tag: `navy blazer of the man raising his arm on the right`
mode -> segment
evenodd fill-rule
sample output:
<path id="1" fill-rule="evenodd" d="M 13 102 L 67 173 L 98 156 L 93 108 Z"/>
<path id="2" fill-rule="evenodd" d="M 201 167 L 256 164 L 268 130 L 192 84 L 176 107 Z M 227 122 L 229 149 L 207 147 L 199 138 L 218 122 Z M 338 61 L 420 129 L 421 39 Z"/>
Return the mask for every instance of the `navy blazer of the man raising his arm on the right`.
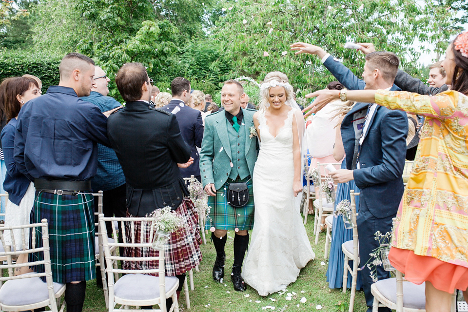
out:
<path id="1" fill-rule="evenodd" d="M 362 90 L 366 83 L 357 78 L 346 66 L 331 56 L 325 67 L 350 90 Z M 393 85 L 392 91 L 400 89 Z M 359 144 L 353 127 L 355 113 L 366 112 L 368 103 L 356 103 L 341 124 L 341 136 L 345 148 L 346 167 L 353 168 L 352 155 Z M 395 215 L 403 195 L 403 167 L 406 156 L 408 118 L 400 111 L 378 106 L 369 124 L 359 154 L 360 169 L 353 170 L 354 182 L 361 190 L 370 213 L 376 218 Z M 361 199 L 361 200 L 362 200 Z"/>

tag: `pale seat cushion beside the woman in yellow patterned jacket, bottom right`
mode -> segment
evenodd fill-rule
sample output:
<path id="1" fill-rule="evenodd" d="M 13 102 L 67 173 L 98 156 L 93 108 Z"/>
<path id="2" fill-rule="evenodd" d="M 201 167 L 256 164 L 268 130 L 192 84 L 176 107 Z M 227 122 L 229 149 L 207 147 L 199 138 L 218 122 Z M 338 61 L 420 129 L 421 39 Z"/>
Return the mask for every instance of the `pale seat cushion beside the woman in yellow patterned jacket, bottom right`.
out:
<path id="1" fill-rule="evenodd" d="M 396 278 L 382 279 L 374 285 L 385 298 L 396 304 Z M 424 283 L 417 285 L 403 281 L 403 307 L 424 310 L 426 307 L 425 290 Z"/>

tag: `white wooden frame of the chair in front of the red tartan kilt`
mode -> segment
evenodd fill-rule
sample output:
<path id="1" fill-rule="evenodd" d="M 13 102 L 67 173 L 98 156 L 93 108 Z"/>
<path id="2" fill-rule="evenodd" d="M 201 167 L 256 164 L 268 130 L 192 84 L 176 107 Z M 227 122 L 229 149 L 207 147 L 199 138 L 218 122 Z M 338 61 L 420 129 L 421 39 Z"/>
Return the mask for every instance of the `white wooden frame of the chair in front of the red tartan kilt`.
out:
<path id="1" fill-rule="evenodd" d="M 117 229 L 116 229 L 116 224 L 114 221 L 120 222 L 121 224 L 121 231 L 122 231 L 122 238 L 123 238 L 123 243 L 119 243 L 118 240 L 115 242 L 109 241 L 107 238 L 107 229 L 105 226 L 105 222 L 111 222 L 112 226 L 112 231 L 114 234 L 114 237 L 117 237 Z M 136 228 L 136 222 L 140 222 L 140 229 L 141 231 L 137 233 L 135 231 Z M 150 217 L 104 217 L 103 214 L 99 215 L 99 236 L 101 236 L 102 242 L 103 242 L 103 248 L 104 248 L 104 255 L 105 255 L 105 261 L 107 264 L 107 278 L 108 278 L 108 289 L 109 289 L 109 309 L 111 309 L 111 306 L 114 302 L 114 294 L 115 294 L 115 289 L 114 289 L 114 274 L 149 274 L 149 273 L 157 273 L 159 276 L 159 293 L 162 295 L 161 297 L 161 311 L 166 311 L 166 301 L 164 300 L 164 293 L 165 292 L 165 278 L 164 278 L 164 244 L 162 245 L 161 248 L 158 248 L 158 256 L 154 256 L 149 253 L 142 252 L 141 256 L 139 257 L 125 257 L 123 255 L 114 255 L 111 253 L 111 247 L 123 247 L 123 248 L 128 248 L 128 247 L 136 247 L 136 248 L 142 248 L 144 250 L 150 250 L 153 248 L 153 238 L 155 237 L 156 231 L 155 231 L 155 224 L 154 224 L 154 219 Z M 149 231 L 149 236 L 147 237 L 145 235 L 146 232 L 144 229 L 150 229 Z M 148 255 L 145 255 L 148 254 Z M 104 261 L 104 259 L 100 260 L 101 263 Z M 148 262 L 148 261 L 157 261 L 157 269 L 141 269 L 141 270 L 133 270 L 133 269 L 118 269 L 118 268 L 113 268 L 112 261 L 128 261 L 128 262 Z"/>

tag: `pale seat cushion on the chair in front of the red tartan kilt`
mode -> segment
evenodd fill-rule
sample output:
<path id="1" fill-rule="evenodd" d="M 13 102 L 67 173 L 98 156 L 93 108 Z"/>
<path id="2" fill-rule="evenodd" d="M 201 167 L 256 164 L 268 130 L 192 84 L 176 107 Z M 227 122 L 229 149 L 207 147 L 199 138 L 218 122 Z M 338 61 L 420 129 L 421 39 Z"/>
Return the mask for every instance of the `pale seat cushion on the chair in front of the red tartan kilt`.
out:
<path id="1" fill-rule="evenodd" d="M 178 286 L 179 280 L 177 277 L 165 276 L 164 279 L 166 294 L 168 291 Z M 114 293 L 116 297 L 125 300 L 150 300 L 158 298 L 159 277 L 145 274 L 123 275 L 116 282 Z"/>

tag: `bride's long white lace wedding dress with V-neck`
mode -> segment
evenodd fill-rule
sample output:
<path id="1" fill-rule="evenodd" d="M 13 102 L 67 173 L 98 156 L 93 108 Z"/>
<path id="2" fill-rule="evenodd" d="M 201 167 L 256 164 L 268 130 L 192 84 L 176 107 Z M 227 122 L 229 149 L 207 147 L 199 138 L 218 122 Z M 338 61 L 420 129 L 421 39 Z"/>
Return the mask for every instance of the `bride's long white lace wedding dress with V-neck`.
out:
<path id="1" fill-rule="evenodd" d="M 286 288 L 315 257 L 294 207 L 293 112 L 276 137 L 270 133 L 265 111 L 258 117 L 261 146 L 253 176 L 255 222 L 242 277 L 261 296 Z"/>

